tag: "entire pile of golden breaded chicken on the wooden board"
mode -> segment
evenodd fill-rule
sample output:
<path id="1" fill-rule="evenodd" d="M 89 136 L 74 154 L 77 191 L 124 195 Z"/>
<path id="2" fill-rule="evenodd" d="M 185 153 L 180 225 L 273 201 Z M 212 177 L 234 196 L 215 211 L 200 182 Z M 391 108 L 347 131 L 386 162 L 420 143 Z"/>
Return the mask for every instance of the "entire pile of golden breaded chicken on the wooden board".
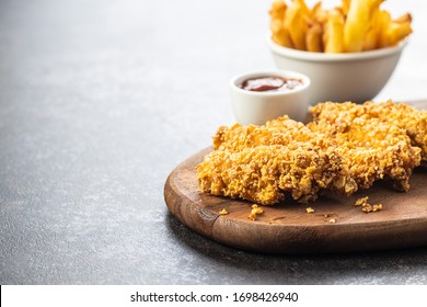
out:
<path id="1" fill-rule="evenodd" d="M 413 170 L 427 164 L 427 111 L 392 101 L 325 102 L 311 114 L 307 125 L 284 116 L 219 127 L 214 151 L 196 168 L 199 189 L 263 205 L 286 196 L 308 203 L 378 180 L 408 191 Z"/>

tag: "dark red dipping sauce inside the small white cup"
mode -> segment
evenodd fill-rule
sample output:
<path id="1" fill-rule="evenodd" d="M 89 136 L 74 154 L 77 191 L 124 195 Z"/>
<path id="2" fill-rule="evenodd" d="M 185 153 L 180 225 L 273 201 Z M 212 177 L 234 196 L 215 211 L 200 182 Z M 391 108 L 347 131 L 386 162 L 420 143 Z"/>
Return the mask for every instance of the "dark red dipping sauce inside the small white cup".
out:
<path id="1" fill-rule="evenodd" d="M 278 76 L 267 76 L 246 79 L 241 88 L 253 92 L 277 92 L 289 91 L 302 86 L 302 81 L 293 78 L 284 78 Z"/>

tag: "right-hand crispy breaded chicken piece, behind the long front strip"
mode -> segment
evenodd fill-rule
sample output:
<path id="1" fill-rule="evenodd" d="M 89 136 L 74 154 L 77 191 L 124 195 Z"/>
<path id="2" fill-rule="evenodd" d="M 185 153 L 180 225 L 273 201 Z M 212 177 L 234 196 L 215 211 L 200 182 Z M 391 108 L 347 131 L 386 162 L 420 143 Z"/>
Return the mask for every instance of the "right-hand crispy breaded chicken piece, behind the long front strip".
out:
<path id="1" fill-rule="evenodd" d="M 393 110 L 399 110 L 399 114 Z M 312 107 L 313 122 L 308 127 L 336 143 L 337 154 L 349 164 L 359 187 L 368 189 L 385 178 L 397 190 L 408 191 L 409 177 L 420 164 L 422 150 L 412 145 L 408 129 L 413 128 L 413 122 L 403 110 L 409 107 L 391 102 L 321 103 Z"/>

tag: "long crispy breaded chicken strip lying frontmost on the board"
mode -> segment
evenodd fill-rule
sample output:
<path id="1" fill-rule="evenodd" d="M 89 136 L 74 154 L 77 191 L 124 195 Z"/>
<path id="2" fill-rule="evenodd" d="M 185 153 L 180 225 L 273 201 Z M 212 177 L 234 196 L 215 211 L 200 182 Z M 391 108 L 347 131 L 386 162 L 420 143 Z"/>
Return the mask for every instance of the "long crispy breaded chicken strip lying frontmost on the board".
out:
<path id="1" fill-rule="evenodd" d="M 301 203 L 316 200 L 322 190 L 348 180 L 342 168 L 338 156 L 319 148 L 261 145 L 215 150 L 197 166 L 197 177 L 203 192 L 270 205 L 282 201 L 286 192 Z"/>

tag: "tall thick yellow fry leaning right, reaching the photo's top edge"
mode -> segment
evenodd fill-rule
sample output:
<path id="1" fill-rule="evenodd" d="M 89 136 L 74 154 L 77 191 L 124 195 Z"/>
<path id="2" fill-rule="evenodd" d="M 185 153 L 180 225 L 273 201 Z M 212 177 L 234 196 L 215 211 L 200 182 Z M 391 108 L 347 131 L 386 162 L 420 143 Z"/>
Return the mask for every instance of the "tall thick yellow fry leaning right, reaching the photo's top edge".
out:
<path id="1" fill-rule="evenodd" d="M 382 2 L 383 0 L 351 0 L 344 26 L 344 50 L 346 53 L 362 50 L 372 14 Z"/>

